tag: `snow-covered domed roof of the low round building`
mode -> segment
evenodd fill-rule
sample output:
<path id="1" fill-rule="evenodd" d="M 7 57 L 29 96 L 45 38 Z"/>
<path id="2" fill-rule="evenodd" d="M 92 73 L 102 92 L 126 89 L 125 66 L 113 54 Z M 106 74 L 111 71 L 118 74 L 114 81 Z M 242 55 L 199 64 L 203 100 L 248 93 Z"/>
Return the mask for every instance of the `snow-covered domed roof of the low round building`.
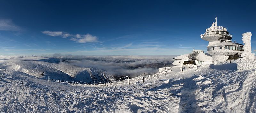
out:
<path id="1" fill-rule="evenodd" d="M 200 53 L 190 53 L 190 54 L 184 54 L 177 56 L 173 58 L 174 60 L 182 60 L 182 61 L 212 61 L 212 57 L 208 56 L 206 54 L 200 54 Z"/>

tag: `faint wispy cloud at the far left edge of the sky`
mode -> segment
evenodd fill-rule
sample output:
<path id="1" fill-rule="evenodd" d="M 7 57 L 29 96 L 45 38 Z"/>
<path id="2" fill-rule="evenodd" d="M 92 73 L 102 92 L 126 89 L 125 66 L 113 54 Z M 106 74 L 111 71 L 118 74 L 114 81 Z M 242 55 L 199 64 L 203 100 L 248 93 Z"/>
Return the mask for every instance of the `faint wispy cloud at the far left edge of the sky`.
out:
<path id="1" fill-rule="evenodd" d="M 0 20 L 0 31 L 19 31 L 20 27 L 12 23 L 10 19 Z"/>

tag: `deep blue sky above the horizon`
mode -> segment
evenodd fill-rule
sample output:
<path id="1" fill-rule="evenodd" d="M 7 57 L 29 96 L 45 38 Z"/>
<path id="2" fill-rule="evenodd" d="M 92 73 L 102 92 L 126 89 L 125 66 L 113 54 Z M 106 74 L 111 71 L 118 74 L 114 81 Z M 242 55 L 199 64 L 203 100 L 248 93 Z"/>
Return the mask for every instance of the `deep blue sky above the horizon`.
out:
<path id="1" fill-rule="evenodd" d="M 200 38 L 218 17 L 256 49 L 256 1 L 1 0 L 1 55 L 180 55 L 206 51 Z"/>

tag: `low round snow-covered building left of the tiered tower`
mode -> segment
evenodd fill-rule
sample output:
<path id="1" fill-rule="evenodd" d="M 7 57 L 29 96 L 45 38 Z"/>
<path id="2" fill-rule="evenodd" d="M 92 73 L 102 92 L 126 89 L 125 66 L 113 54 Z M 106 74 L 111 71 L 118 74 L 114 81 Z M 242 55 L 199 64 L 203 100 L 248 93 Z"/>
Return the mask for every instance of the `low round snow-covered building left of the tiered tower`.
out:
<path id="1" fill-rule="evenodd" d="M 197 61 L 197 64 L 212 64 L 213 59 L 211 56 L 204 54 L 204 51 L 202 50 L 193 50 L 192 53 L 190 54 L 184 54 L 177 56 L 173 58 L 173 65 L 178 65 L 180 66 L 181 64 L 186 65 L 186 64 L 196 64 L 195 61 Z"/>

